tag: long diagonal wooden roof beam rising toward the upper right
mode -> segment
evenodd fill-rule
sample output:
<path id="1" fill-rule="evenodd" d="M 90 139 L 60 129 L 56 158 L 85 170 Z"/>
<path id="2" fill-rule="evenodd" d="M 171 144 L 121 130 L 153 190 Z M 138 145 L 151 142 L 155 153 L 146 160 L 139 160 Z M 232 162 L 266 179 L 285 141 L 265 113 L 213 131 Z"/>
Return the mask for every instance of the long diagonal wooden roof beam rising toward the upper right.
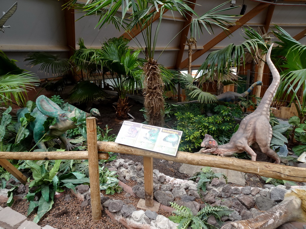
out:
<path id="1" fill-rule="evenodd" d="M 214 47 L 216 44 L 221 42 L 224 38 L 228 36 L 229 33 L 232 33 L 239 29 L 241 26 L 243 26 L 246 22 L 251 20 L 253 17 L 255 17 L 257 14 L 259 14 L 261 11 L 266 9 L 270 4 L 267 3 L 259 3 L 256 5 L 253 9 L 251 9 L 248 13 L 246 13 L 244 16 L 242 16 L 239 20 L 236 21 L 236 25 L 227 27 L 228 30 L 222 31 L 219 35 L 217 35 L 215 38 L 213 38 L 211 41 L 209 41 L 207 44 L 203 46 L 203 49 L 197 50 L 195 53 L 192 54 L 192 61 L 196 60 L 200 56 L 202 56 L 204 53 L 206 53 L 209 49 Z M 188 58 L 185 59 L 181 64 L 180 68 L 184 68 L 188 65 Z"/>

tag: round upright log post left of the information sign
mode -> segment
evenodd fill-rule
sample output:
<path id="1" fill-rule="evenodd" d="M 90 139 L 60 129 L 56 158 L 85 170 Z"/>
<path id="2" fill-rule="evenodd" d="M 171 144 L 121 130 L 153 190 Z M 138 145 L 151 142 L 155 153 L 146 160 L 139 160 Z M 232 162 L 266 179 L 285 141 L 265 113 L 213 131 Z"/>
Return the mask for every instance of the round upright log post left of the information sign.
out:
<path id="1" fill-rule="evenodd" d="M 97 129 L 95 117 L 86 118 L 89 182 L 91 196 L 91 215 L 92 221 L 98 222 L 101 219 L 101 198 L 99 180 L 99 162 L 97 148 Z"/>

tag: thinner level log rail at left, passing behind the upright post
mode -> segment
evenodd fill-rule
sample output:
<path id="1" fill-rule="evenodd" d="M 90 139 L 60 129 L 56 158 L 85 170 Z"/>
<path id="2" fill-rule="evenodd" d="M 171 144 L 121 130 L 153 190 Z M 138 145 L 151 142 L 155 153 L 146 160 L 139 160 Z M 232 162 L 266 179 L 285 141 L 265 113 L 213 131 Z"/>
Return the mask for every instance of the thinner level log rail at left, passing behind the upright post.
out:
<path id="1" fill-rule="evenodd" d="M 52 152 L 2 152 L 0 158 L 13 160 L 87 160 L 88 151 L 52 151 Z M 108 159 L 108 153 L 99 152 L 98 159 Z"/>

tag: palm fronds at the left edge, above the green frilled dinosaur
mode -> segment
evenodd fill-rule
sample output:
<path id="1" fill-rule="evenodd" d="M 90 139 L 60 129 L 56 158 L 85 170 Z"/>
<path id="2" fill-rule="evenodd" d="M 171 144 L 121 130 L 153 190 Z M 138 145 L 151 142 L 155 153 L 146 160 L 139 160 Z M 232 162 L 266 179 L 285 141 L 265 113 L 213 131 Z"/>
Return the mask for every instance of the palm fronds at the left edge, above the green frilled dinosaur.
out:
<path id="1" fill-rule="evenodd" d="M 25 107 L 26 92 L 39 85 L 39 78 L 32 72 L 17 67 L 14 60 L 10 60 L 0 50 L 0 103 L 8 105 L 12 99 L 20 107 Z"/>

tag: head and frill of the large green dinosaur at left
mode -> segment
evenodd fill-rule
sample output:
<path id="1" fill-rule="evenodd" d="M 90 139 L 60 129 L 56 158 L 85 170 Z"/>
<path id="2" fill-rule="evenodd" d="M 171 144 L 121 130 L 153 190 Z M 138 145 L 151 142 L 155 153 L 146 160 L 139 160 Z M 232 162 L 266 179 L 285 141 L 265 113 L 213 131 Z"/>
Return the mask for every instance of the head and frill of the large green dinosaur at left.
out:
<path id="1" fill-rule="evenodd" d="M 37 109 L 48 117 L 56 118 L 54 125 L 50 125 L 50 129 L 55 131 L 66 131 L 69 129 L 76 128 L 76 125 L 73 124 L 73 121 L 69 118 L 74 117 L 74 111 L 63 111 L 56 103 L 48 99 L 46 96 L 41 95 L 36 99 Z M 43 125 L 43 123 L 41 123 Z"/>

